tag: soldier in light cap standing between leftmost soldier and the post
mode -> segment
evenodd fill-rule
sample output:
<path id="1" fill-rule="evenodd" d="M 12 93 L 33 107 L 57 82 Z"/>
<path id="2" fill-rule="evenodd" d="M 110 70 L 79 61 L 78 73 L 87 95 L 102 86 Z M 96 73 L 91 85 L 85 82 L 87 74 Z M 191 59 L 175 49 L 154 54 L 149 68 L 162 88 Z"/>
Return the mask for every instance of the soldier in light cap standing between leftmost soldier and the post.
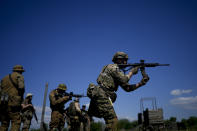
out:
<path id="1" fill-rule="evenodd" d="M 35 109 L 32 105 L 32 94 L 28 93 L 26 95 L 25 100 L 21 104 L 22 106 L 22 123 L 23 123 L 23 128 L 22 131 L 28 131 L 31 125 L 31 120 L 33 117 L 33 113 L 35 112 Z"/>

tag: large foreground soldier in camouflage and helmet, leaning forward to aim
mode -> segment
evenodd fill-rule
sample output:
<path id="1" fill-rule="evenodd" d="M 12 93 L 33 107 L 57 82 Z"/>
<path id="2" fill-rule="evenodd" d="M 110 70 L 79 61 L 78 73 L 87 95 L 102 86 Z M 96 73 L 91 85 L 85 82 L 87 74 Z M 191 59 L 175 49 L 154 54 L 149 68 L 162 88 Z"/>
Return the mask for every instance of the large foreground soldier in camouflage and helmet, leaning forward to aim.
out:
<path id="1" fill-rule="evenodd" d="M 131 92 L 137 88 L 146 84 L 149 80 L 148 76 L 137 83 L 129 84 L 129 80 L 135 74 L 137 74 L 140 67 L 135 67 L 125 75 L 121 69 L 123 67 L 120 64 L 127 64 L 128 55 L 124 52 L 117 52 L 113 57 L 114 64 L 109 64 L 103 67 L 99 77 L 97 78 L 98 86 L 93 84 L 89 85 L 89 88 L 93 86 L 93 95 L 91 98 L 88 114 L 99 118 L 104 118 L 106 123 L 105 131 L 117 130 L 117 116 L 113 108 L 112 102 L 116 100 L 116 91 L 118 86 L 121 86 L 126 92 Z M 88 88 L 88 89 L 89 89 Z M 89 90 L 88 90 L 89 93 Z"/>

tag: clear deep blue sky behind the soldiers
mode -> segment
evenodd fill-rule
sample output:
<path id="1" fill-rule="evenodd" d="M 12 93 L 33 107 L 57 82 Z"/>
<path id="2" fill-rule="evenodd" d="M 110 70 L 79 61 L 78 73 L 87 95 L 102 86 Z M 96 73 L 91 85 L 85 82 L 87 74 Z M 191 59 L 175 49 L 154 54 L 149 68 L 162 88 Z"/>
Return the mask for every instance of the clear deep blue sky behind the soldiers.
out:
<path id="1" fill-rule="evenodd" d="M 137 119 L 143 97 L 156 97 L 165 119 L 196 116 L 196 5 L 194 0 L 2 0 L 0 78 L 23 65 L 26 93 L 34 94 L 40 109 L 46 82 L 49 91 L 65 83 L 69 92 L 86 94 L 114 53 L 124 51 L 130 63 L 145 59 L 170 67 L 147 68 L 149 83 L 134 92 L 119 88 L 114 104 L 119 118 Z M 130 83 L 140 79 L 139 73 Z M 88 103 L 81 99 L 81 105 Z"/>

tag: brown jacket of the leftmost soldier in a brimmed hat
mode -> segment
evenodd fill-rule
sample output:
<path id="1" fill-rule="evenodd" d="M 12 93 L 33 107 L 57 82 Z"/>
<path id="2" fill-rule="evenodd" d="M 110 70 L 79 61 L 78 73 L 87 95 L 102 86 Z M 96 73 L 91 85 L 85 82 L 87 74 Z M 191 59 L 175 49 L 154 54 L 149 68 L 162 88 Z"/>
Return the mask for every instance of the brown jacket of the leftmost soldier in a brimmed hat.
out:
<path id="1" fill-rule="evenodd" d="M 20 106 L 25 92 L 23 75 L 18 72 L 13 72 L 5 76 L 1 81 L 1 89 L 2 93 L 7 93 L 9 96 L 8 106 Z"/>

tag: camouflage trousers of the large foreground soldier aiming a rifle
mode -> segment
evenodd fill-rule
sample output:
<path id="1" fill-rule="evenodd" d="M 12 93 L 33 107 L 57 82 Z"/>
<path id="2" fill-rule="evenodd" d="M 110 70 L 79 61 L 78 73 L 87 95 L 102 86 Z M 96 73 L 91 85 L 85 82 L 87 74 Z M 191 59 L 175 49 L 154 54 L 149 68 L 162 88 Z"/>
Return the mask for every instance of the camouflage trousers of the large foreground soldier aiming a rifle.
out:
<path id="1" fill-rule="evenodd" d="M 98 94 L 91 99 L 88 110 L 90 116 L 104 118 L 106 128 L 105 131 L 117 131 L 117 116 L 109 97 L 102 88 L 98 89 Z"/>

